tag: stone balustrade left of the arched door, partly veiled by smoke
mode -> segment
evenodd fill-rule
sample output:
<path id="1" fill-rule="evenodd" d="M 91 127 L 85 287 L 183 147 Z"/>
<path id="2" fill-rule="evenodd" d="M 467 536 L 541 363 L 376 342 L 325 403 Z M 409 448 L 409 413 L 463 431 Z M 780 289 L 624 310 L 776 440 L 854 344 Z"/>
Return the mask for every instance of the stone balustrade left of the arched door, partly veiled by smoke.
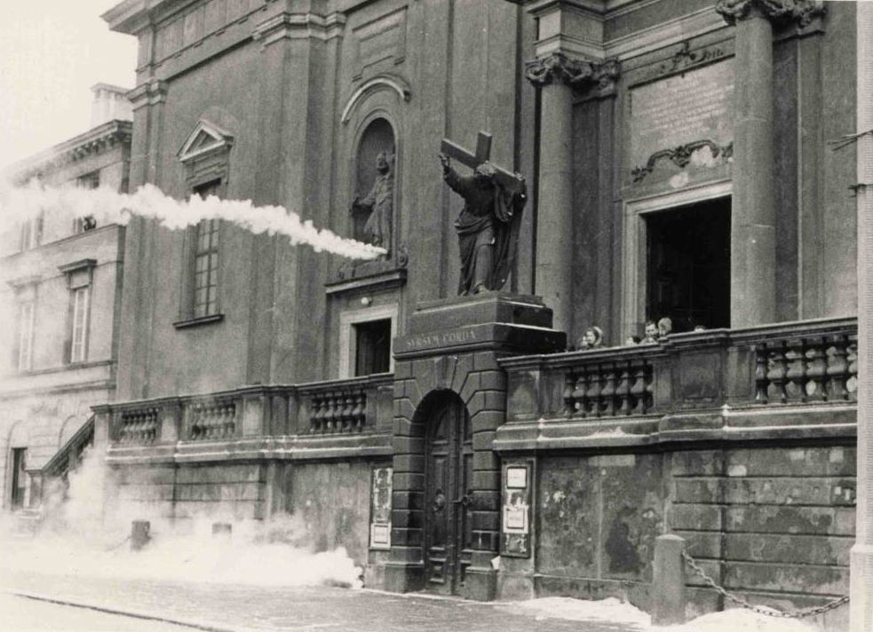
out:
<path id="1" fill-rule="evenodd" d="M 113 446 L 390 432 L 393 375 L 150 399 L 95 408 Z"/>

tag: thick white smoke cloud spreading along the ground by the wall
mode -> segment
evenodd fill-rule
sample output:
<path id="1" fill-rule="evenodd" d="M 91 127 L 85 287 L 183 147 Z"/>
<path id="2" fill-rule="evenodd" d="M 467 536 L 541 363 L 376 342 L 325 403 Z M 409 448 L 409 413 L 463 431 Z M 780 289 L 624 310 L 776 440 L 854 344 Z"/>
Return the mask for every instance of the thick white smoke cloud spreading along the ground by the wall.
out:
<path id="1" fill-rule="evenodd" d="M 345 549 L 315 551 L 302 521 L 293 516 L 232 520 L 195 516 L 172 521 L 156 506 L 104 515 L 106 472 L 95 450 L 69 475 L 69 486 L 46 490 L 44 517 L 33 537 L 15 533 L 12 520 L 0 535 L 0 569 L 103 578 L 141 578 L 270 586 L 361 588 L 361 568 Z M 111 504 L 111 503 L 110 503 Z M 148 520 L 151 541 L 131 550 L 131 521 Z M 212 525 L 231 525 L 214 536 Z M 182 523 L 182 524 L 179 524 Z"/>

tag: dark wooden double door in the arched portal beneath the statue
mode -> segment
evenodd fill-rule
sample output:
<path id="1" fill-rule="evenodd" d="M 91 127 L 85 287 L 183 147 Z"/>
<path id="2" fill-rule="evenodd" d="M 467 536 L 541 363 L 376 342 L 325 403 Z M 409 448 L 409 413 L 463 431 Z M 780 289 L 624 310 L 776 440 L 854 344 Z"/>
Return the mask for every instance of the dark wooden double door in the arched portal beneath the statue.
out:
<path id="1" fill-rule="evenodd" d="M 435 406 L 427 424 L 426 589 L 443 595 L 461 592 L 472 557 L 470 426 L 470 415 L 457 396 L 447 396 Z"/>

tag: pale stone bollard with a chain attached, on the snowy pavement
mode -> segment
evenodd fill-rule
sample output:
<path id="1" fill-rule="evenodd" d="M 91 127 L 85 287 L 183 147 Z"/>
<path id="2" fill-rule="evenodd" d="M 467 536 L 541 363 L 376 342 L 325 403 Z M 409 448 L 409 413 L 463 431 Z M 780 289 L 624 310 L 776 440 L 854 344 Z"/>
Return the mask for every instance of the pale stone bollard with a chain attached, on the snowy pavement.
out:
<path id="1" fill-rule="evenodd" d="M 655 573 L 652 580 L 652 625 L 685 623 L 685 540 L 678 535 L 655 539 Z"/>

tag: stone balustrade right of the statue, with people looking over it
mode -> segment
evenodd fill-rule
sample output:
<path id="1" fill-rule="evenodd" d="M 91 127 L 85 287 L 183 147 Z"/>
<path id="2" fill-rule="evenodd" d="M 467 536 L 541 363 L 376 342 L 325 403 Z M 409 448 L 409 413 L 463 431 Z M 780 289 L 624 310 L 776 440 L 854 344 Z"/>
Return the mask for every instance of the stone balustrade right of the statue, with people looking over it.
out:
<path id="1" fill-rule="evenodd" d="M 844 436 L 854 431 L 856 356 L 856 320 L 828 319 L 501 359 L 508 399 L 496 446 L 782 438 L 800 426 Z"/>

